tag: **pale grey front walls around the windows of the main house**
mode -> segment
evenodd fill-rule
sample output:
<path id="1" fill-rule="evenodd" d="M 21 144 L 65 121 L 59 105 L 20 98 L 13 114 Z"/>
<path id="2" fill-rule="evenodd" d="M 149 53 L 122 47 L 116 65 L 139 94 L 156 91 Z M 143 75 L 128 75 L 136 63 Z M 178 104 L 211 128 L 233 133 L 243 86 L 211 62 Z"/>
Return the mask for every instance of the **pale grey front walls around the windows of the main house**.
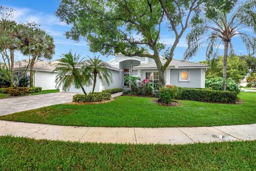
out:
<path id="1" fill-rule="evenodd" d="M 180 70 L 189 71 L 189 82 L 180 82 Z M 164 73 L 166 85 L 175 85 L 188 88 L 205 87 L 205 69 L 166 69 Z M 157 72 L 157 70 L 138 70 L 141 80 L 146 78 L 146 72 Z"/>

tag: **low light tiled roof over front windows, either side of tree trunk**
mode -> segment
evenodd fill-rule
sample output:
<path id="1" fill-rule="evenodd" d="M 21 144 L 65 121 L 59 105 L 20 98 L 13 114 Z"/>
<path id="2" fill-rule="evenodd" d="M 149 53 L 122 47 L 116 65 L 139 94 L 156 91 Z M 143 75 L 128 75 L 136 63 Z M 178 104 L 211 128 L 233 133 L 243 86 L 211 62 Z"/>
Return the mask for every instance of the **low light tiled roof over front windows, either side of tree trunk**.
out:
<path id="1" fill-rule="evenodd" d="M 162 64 L 166 62 L 166 60 L 161 60 Z M 204 63 L 197 63 L 197 62 L 189 62 L 189 61 L 183 61 L 183 60 L 176 60 L 173 59 L 169 66 L 169 68 L 186 68 L 186 67 L 194 67 L 194 68 L 210 68 L 207 66 L 207 64 Z M 156 62 L 150 62 L 147 64 L 141 64 L 139 66 L 135 66 L 133 68 L 157 68 Z"/>

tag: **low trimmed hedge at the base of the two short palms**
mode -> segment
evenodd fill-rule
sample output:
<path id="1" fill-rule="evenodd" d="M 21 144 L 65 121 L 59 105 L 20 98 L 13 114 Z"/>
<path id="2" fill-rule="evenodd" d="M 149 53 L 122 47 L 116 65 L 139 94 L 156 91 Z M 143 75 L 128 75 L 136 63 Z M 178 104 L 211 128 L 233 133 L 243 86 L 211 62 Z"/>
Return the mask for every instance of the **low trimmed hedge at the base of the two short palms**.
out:
<path id="1" fill-rule="evenodd" d="M 106 92 L 89 93 L 88 95 L 76 94 L 73 96 L 73 102 L 101 102 L 110 99 L 111 94 Z"/>

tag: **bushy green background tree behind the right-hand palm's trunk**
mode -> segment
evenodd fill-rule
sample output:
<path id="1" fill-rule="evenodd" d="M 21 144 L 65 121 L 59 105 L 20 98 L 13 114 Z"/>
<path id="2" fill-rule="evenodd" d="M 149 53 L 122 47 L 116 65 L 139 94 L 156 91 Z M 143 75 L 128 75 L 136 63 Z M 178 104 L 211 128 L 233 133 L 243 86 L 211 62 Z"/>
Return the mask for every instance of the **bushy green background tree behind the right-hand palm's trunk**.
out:
<path id="1" fill-rule="evenodd" d="M 211 61 L 210 61 L 211 62 Z M 209 63 L 209 61 L 202 61 L 202 63 Z M 211 62 L 212 63 L 212 62 Z M 236 83 L 240 83 L 241 79 L 248 74 L 249 70 L 246 61 L 240 59 L 238 56 L 230 56 L 227 60 L 227 78 L 233 79 Z M 205 77 L 207 79 L 223 76 L 223 56 L 215 59 L 215 63 L 211 68 L 207 69 Z"/>

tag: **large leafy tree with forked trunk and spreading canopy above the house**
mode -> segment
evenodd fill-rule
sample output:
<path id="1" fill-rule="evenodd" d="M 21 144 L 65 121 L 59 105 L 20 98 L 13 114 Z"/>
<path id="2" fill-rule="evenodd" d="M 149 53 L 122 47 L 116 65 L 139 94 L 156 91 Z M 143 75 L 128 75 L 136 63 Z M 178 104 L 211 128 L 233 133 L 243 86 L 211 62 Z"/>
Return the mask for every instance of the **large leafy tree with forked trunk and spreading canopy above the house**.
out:
<path id="1" fill-rule="evenodd" d="M 216 4 L 221 3 L 206 0 L 62 0 L 55 14 L 72 25 L 66 37 L 76 41 L 85 38 L 92 52 L 154 59 L 159 83 L 163 86 L 164 71 L 189 23 L 194 26 L 202 9 Z M 163 27 L 174 35 L 171 46 L 161 41 Z M 161 59 L 161 53 L 165 60 Z"/>

